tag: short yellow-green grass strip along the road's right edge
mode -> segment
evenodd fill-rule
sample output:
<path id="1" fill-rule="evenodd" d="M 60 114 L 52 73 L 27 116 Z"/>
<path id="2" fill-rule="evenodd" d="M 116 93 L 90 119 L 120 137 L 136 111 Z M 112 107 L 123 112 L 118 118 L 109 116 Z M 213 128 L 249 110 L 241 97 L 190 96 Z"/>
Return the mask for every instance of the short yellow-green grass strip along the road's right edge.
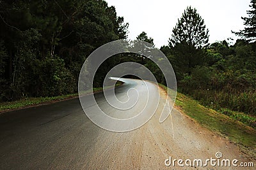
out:
<path id="1" fill-rule="evenodd" d="M 160 86 L 167 90 L 163 85 Z M 243 152 L 255 158 L 256 130 L 252 127 L 239 122 L 236 118 L 228 117 L 228 115 L 224 115 L 221 112 L 206 108 L 198 101 L 184 94 L 177 93 L 175 106 L 202 126 L 217 132 L 221 136 L 225 136 L 225 138 L 241 146 Z"/>

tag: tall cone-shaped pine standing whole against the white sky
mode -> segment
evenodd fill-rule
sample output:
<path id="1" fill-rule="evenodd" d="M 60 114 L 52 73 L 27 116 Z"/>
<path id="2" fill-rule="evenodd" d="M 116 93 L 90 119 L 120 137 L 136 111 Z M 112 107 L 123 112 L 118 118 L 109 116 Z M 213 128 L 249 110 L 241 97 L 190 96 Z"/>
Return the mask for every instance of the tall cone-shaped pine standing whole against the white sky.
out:
<path id="1" fill-rule="evenodd" d="M 205 28 L 204 19 L 189 6 L 173 28 L 169 39 L 170 48 L 174 49 L 178 67 L 183 73 L 204 62 L 202 49 L 208 45 L 209 30 Z"/>

